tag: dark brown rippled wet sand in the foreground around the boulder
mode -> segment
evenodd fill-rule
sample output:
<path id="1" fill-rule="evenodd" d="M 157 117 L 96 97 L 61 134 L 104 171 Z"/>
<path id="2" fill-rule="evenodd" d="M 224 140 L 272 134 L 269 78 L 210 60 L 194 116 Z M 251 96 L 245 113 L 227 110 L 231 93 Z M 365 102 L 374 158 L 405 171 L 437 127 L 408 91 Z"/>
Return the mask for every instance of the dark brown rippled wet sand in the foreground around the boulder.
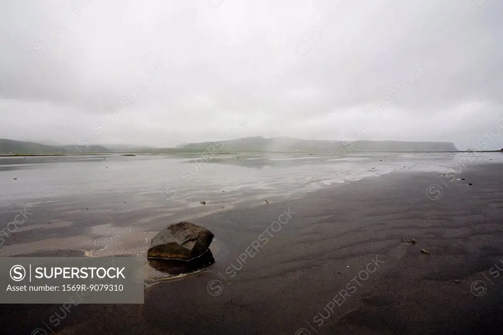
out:
<path id="1" fill-rule="evenodd" d="M 216 262 L 206 271 L 147 287 L 143 305 L 79 304 L 65 311 L 2 304 L 0 329 L 499 334 L 503 271 L 494 266 L 503 269 L 501 171 L 500 163 L 473 164 L 457 176 L 466 180 L 452 182 L 438 173 L 398 172 L 210 214 L 196 222 L 216 236 Z M 434 184 L 443 192 L 437 200 L 427 194 Z M 278 218 L 288 222 L 273 223 Z M 417 243 L 405 241 L 411 238 Z M 58 324 L 49 321 L 55 313 Z"/>

